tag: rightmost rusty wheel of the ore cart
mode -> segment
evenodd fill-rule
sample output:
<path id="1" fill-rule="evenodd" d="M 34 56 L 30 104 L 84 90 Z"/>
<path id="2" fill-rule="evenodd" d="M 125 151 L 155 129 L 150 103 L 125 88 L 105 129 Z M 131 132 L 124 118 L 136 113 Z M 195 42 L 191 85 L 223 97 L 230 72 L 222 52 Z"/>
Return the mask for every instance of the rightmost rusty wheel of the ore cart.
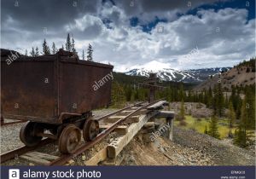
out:
<path id="1" fill-rule="evenodd" d="M 84 123 L 84 141 L 92 141 L 100 132 L 100 125 L 97 120 L 87 119 Z"/>

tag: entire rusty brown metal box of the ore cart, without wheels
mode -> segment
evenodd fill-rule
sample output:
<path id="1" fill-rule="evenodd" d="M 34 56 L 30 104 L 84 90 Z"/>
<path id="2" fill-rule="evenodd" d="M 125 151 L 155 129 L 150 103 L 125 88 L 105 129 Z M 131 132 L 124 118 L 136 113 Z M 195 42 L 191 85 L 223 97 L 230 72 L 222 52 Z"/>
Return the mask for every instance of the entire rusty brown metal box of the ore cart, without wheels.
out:
<path id="1" fill-rule="evenodd" d="M 79 61 L 72 53 L 38 57 L 20 56 L 11 64 L 1 58 L 1 115 L 3 118 L 61 124 L 110 103 L 111 80 L 98 90 L 95 81 L 113 66 Z"/>

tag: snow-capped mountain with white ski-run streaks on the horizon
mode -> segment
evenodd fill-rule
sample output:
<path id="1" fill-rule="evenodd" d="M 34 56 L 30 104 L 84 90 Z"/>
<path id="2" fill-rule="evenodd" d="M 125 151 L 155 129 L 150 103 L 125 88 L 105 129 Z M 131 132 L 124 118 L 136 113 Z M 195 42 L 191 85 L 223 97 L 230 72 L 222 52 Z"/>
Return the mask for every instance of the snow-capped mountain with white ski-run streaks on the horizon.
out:
<path id="1" fill-rule="evenodd" d="M 131 76 L 149 76 L 149 73 L 156 72 L 157 76 L 165 81 L 176 81 L 184 83 L 199 83 L 211 75 L 227 71 L 230 67 L 215 67 L 215 68 L 202 68 L 192 70 L 175 70 L 167 64 L 163 64 L 157 61 L 151 61 L 144 66 L 135 66 L 132 69 L 128 69 L 125 74 Z"/>

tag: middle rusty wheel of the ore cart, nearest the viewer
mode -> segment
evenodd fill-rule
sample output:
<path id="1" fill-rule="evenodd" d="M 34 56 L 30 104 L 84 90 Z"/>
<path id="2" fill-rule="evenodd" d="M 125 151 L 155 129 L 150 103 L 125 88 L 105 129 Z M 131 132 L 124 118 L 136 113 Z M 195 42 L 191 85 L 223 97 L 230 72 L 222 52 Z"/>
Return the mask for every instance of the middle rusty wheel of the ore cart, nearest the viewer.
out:
<path id="1" fill-rule="evenodd" d="M 61 153 L 73 153 L 81 141 L 81 132 L 73 124 L 68 124 L 62 131 L 59 139 L 59 151 Z"/>

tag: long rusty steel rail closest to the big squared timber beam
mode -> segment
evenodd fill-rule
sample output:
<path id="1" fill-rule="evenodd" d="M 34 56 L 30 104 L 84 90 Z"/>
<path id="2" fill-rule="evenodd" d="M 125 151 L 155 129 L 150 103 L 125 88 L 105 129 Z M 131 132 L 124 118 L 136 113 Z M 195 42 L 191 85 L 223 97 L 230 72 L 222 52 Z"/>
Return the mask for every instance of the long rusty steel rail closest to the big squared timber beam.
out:
<path id="1" fill-rule="evenodd" d="M 160 100 L 158 100 L 158 101 L 160 101 Z M 139 112 L 143 108 L 151 106 L 152 104 L 154 104 L 154 103 L 156 103 L 158 101 L 154 101 L 154 102 L 148 103 L 147 105 L 144 105 L 143 107 L 137 108 L 134 112 L 132 112 L 132 113 L 128 114 L 127 116 L 125 116 L 125 118 L 120 118 L 118 121 L 113 123 L 108 129 L 103 130 L 98 136 L 96 136 L 96 138 L 93 141 L 89 141 L 89 142 L 81 145 L 80 147 L 78 147 L 78 149 L 76 149 L 76 151 L 74 153 L 62 154 L 60 158 L 51 161 L 49 163 L 49 165 L 65 165 L 69 160 L 73 159 L 74 157 L 78 156 L 81 153 L 84 153 L 85 150 L 89 149 L 90 147 L 93 147 L 97 142 L 102 141 L 102 139 L 104 137 L 108 136 L 108 134 L 110 132 L 112 132 L 116 127 L 118 127 L 119 124 L 124 122 L 126 118 L 130 118 L 132 115 L 134 115 L 135 113 Z M 127 108 L 129 108 L 129 107 L 127 107 Z"/>

